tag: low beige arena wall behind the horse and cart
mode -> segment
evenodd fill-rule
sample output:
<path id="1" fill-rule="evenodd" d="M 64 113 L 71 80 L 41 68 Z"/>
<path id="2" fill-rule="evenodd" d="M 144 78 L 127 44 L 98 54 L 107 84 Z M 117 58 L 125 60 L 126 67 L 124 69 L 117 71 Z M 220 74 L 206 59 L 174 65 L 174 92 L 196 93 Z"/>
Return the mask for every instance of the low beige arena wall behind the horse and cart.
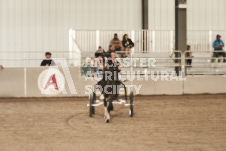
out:
<path id="1" fill-rule="evenodd" d="M 67 94 L 56 96 L 43 95 L 38 87 L 38 77 L 46 67 L 37 68 L 5 68 L 0 70 L 0 97 L 71 97 L 87 96 L 86 86 L 96 84 L 95 80 L 80 76 L 80 69 L 70 67 L 70 74 L 77 94 L 71 94 L 67 80 L 65 90 Z M 62 73 L 62 68 L 59 69 Z M 66 78 L 65 78 L 66 79 Z M 139 95 L 182 95 L 182 94 L 217 94 L 226 93 L 225 76 L 187 77 L 185 81 L 126 81 L 125 85 L 135 85 L 141 89 Z M 136 91 L 133 89 L 135 95 Z M 129 92 L 128 92 L 129 93 Z"/>

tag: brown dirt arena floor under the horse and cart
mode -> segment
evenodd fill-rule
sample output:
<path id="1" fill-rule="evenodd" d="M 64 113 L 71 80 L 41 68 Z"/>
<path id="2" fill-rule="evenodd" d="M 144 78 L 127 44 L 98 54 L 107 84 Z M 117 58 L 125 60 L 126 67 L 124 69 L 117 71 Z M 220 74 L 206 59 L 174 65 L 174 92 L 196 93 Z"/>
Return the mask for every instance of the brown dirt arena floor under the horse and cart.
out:
<path id="1" fill-rule="evenodd" d="M 226 151 L 226 95 L 136 97 L 88 116 L 88 98 L 0 101 L 0 151 Z"/>

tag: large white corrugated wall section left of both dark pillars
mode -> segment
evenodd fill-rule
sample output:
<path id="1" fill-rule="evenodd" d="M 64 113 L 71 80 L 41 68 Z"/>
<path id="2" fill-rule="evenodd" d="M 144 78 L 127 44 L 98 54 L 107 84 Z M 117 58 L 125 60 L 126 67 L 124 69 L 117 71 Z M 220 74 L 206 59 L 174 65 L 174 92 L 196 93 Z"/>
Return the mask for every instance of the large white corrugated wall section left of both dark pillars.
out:
<path id="1" fill-rule="evenodd" d="M 71 28 L 142 28 L 140 0 L 0 0 L 0 4 L 0 51 L 68 51 Z M 1 53 L 9 55 L 21 57 Z"/>

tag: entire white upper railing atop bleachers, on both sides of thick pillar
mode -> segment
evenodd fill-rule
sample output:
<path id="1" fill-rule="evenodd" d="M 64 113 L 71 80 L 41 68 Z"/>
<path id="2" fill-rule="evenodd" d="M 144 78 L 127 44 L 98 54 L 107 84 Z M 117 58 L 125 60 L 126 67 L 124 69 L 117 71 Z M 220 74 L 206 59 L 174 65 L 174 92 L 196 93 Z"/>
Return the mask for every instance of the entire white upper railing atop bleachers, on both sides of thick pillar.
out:
<path id="1" fill-rule="evenodd" d="M 94 52 L 98 46 L 105 50 L 112 40 L 114 33 L 120 40 L 124 34 L 134 42 L 134 52 L 164 52 L 175 48 L 174 30 L 73 30 L 77 45 L 82 52 Z M 216 35 L 220 34 L 226 39 L 225 30 L 188 30 L 187 44 L 192 51 L 211 51 Z"/>

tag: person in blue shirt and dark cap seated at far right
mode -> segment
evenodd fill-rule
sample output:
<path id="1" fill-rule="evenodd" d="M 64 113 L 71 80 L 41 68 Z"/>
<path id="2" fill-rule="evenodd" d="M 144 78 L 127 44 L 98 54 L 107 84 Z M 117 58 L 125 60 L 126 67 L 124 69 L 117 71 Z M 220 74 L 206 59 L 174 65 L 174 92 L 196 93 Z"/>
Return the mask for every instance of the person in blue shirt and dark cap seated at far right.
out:
<path id="1" fill-rule="evenodd" d="M 224 62 L 226 62 L 226 54 L 223 50 L 224 48 L 224 42 L 221 40 L 221 36 L 220 35 L 217 35 L 216 37 L 217 39 L 213 42 L 213 48 L 214 48 L 214 51 L 217 51 L 217 52 L 214 52 L 213 53 L 213 59 L 212 59 L 212 62 L 214 62 L 215 58 L 218 58 L 220 56 L 224 57 Z M 218 59 L 218 62 L 220 62 L 220 59 Z"/>

